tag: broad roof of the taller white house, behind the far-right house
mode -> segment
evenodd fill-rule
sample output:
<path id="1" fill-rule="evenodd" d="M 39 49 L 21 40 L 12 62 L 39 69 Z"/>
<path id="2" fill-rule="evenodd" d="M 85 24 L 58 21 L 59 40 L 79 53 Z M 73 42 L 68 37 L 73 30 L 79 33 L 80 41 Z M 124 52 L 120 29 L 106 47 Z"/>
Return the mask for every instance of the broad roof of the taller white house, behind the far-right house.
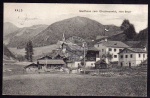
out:
<path id="1" fill-rule="evenodd" d="M 129 46 L 121 41 L 100 41 L 98 44 L 103 44 L 106 47 L 128 48 Z"/>

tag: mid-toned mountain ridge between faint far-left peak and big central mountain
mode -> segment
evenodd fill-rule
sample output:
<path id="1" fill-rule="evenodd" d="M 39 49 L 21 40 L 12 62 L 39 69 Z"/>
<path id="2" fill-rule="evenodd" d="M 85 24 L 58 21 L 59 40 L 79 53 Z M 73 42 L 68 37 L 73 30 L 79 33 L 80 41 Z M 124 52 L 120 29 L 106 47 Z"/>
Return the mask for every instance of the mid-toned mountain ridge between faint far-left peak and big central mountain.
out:
<path id="1" fill-rule="evenodd" d="M 47 25 L 33 25 L 31 27 L 20 28 L 17 31 L 4 37 L 4 43 L 9 47 L 23 48 L 29 40 L 38 35 Z"/>

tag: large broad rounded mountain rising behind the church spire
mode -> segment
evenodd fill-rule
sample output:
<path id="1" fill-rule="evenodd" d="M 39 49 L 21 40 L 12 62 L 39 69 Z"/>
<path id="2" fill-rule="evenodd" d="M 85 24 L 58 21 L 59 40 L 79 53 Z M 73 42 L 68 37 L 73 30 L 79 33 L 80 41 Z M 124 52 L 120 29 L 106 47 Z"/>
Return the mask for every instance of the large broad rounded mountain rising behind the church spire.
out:
<path id="1" fill-rule="evenodd" d="M 78 36 L 85 40 L 93 40 L 97 35 L 111 36 L 120 32 L 121 30 L 117 26 L 105 26 L 95 20 L 77 16 L 51 24 L 36 35 L 32 41 L 37 47 L 57 43 L 58 40 L 62 40 L 63 33 L 66 39 L 71 36 Z"/>

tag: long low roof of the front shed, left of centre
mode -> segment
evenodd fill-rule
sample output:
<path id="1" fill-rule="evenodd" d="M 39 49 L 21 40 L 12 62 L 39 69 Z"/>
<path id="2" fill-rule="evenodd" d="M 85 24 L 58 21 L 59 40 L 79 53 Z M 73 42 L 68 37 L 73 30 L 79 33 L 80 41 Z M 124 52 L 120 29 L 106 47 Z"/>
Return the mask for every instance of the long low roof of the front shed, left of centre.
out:
<path id="1" fill-rule="evenodd" d="M 65 64 L 63 60 L 57 59 L 57 60 L 39 60 L 39 64 Z"/>

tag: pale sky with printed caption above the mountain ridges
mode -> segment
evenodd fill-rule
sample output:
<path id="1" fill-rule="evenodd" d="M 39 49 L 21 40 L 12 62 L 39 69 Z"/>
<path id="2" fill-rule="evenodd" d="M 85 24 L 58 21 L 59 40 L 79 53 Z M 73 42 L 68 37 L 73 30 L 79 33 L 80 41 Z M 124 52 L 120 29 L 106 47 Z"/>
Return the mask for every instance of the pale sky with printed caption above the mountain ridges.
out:
<path id="1" fill-rule="evenodd" d="M 18 27 L 51 25 L 76 16 L 87 17 L 103 25 L 116 26 L 128 19 L 138 33 L 148 26 L 148 5 L 4 3 L 4 22 L 11 22 Z"/>

